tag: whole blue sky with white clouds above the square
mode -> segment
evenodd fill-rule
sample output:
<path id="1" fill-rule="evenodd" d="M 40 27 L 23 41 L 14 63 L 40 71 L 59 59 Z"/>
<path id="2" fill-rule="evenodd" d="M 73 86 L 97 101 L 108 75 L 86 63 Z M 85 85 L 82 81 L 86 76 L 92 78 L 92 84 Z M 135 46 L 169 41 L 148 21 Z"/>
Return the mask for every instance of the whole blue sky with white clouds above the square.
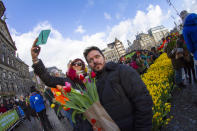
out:
<path id="1" fill-rule="evenodd" d="M 40 59 L 47 67 L 66 72 L 67 63 L 83 58 L 83 50 L 95 45 L 101 49 L 115 37 L 127 47 L 136 33 L 158 25 L 168 29 L 180 23 L 166 0 L 3 0 L 6 20 L 19 57 L 30 66 L 30 48 L 42 29 L 51 29 Z M 197 0 L 171 0 L 180 12 L 197 13 Z"/>

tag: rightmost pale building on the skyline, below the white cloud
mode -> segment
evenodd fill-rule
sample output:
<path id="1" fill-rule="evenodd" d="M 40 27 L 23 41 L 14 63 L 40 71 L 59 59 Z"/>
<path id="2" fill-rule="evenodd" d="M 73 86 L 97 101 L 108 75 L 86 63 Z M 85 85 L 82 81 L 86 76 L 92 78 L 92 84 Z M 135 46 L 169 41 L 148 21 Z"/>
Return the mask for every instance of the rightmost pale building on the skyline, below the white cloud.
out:
<path id="1" fill-rule="evenodd" d="M 168 36 L 169 31 L 167 28 L 161 25 L 161 26 L 157 26 L 154 28 L 150 28 L 148 30 L 148 34 L 154 38 L 157 44 L 159 44 L 162 38 L 165 38 L 166 36 Z"/>

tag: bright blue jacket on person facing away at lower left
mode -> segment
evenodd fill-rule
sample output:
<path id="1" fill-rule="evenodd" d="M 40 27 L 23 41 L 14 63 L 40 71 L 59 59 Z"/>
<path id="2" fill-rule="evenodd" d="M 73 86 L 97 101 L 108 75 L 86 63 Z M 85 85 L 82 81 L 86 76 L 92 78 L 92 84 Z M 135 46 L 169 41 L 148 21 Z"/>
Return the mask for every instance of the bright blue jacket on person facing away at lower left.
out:
<path id="1" fill-rule="evenodd" d="M 29 101 L 31 108 L 36 112 L 41 112 L 45 109 L 43 97 L 39 93 L 33 92 L 30 96 Z"/>

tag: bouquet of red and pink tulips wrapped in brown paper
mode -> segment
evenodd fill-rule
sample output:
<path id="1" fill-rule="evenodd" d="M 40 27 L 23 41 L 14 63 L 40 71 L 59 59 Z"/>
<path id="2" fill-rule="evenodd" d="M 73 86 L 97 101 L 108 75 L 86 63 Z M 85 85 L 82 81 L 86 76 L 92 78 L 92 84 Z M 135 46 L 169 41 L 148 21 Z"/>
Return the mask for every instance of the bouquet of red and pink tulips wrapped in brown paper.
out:
<path id="1" fill-rule="evenodd" d="M 84 118 L 87 118 L 98 131 L 120 131 L 100 104 L 95 76 L 94 72 L 91 72 L 86 78 L 83 75 L 79 76 L 85 85 L 85 89 L 82 89 L 79 85 L 77 85 L 78 90 L 74 89 L 70 83 L 65 82 L 61 93 L 67 99 L 64 99 L 65 103 L 61 103 L 60 108 L 73 109 L 72 120 L 74 123 L 76 122 L 76 114 L 83 114 Z"/>

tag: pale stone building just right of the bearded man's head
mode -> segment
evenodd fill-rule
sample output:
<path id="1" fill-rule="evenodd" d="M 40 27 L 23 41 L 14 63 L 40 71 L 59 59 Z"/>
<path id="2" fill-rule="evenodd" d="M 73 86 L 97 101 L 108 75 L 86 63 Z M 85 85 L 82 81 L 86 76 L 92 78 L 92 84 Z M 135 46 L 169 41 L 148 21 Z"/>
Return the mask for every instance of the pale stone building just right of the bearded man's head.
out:
<path id="1" fill-rule="evenodd" d="M 102 50 L 107 62 L 113 61 L 118 62 L 121 56 L 126 54 L 126 50 L 123 43 L 115 38 L 115 41 L 107 44 L 107 48 Z"/>

